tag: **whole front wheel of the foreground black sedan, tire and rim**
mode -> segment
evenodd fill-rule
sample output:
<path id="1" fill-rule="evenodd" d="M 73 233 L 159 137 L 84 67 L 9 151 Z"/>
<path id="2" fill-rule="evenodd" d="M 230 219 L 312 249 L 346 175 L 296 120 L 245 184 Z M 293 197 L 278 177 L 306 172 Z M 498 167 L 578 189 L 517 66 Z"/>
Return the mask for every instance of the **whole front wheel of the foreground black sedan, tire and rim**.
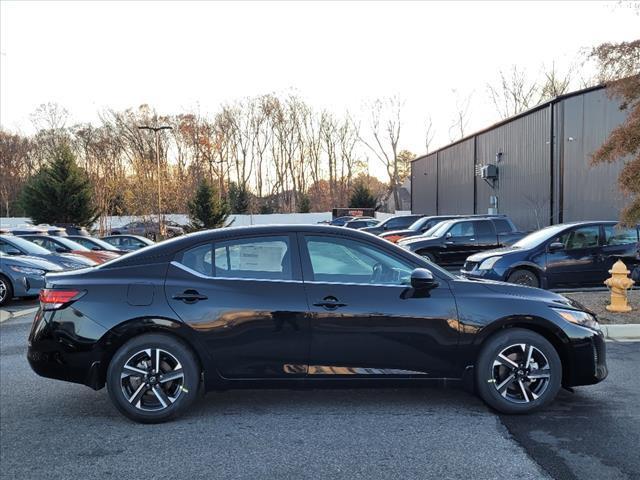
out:
<path id="1" fill-rule="evenodd" d="M 562 362 L 542 335 L 508 328 L 486 341 L 476 362 L 475 377 L 478 395 L 491 408 L 506 414 L 530 413 L 549 405 L 558 394 Z"/>

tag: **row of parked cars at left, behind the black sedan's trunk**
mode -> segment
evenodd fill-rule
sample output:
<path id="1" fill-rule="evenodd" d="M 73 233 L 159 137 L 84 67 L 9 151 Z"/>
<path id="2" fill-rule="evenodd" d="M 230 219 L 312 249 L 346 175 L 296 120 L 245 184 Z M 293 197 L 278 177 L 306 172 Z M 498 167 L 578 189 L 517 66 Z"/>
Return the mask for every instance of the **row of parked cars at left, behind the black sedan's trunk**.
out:
<path id="1" fill-rule="evenodd" d="M 28 228 L 12 231 L 15 234 L 0 235 L 0 305 L 14 297 L 38 295 L 46 273 L 93 267 L 154 243 L 135 235 L 100 239 L 33 233 L 41 230 Z"/>

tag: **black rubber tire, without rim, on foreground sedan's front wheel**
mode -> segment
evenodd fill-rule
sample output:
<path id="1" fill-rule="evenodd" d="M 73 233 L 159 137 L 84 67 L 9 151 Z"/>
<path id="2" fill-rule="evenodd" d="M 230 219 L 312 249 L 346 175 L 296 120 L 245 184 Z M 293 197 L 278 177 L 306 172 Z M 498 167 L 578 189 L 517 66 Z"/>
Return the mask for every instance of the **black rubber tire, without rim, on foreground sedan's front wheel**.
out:
<path id="1" fill-rule="evenodd" d="M 549 361 L 551 378 L 544 393 L 529 403 L 513 403 L 505 399 L 493 384 L 493 361 L 509 345 L 527 343 L 538 348 Z M 556 349 L 542 335 L 522 328 L 502 330 L 488 339 L 478 356 L 476 366 L 476 391 L 495 410 L 506 414 L 529 413 L 545 407 L 553 401 L 562 386 L 562 362 Z"/>

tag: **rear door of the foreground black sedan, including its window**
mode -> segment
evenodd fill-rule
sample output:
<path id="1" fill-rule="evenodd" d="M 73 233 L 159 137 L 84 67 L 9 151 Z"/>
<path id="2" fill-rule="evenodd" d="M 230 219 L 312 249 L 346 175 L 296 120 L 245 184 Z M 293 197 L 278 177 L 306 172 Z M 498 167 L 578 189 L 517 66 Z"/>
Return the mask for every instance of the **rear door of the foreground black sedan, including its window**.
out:
<path id="1" fill-rule="evenodd" d="M 296 252 L 294 235 L 244 236 L 191 248 L 170 264 L 167 301 L 223 377 L 306 375 L 310 335 Z"/>

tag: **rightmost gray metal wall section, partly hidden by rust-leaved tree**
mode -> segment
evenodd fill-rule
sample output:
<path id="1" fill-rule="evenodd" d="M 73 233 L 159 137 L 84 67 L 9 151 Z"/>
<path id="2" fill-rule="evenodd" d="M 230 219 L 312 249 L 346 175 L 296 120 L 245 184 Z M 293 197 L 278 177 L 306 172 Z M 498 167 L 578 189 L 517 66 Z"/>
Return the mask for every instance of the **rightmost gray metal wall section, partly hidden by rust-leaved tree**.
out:
<path id="1" fill-rule="evenodd" d="M 623 162 L 591 166 L 591 154 L 627 112 L 605 90 L 588 92 L 560 102 L 564 111 L 557 135 L 563 179 L 562 220 L 616 220 L 624 205 L 617 178 Z"/>

